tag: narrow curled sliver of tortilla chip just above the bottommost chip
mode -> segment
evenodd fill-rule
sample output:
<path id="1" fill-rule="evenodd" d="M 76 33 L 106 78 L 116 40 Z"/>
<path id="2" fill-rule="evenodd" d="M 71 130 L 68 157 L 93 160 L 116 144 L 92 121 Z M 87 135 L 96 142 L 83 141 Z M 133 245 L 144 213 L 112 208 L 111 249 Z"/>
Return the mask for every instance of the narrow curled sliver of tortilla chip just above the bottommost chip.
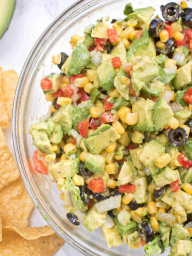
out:
<path id="1" fill-rule="evenodd" d="M 50 226 L 31 228 L 31 227 L 3 227 L 17 232 L 20 236 L 27 240 L 38 239 L 43 236 L 50 236 L 54 234 L 54 230 Z"/>

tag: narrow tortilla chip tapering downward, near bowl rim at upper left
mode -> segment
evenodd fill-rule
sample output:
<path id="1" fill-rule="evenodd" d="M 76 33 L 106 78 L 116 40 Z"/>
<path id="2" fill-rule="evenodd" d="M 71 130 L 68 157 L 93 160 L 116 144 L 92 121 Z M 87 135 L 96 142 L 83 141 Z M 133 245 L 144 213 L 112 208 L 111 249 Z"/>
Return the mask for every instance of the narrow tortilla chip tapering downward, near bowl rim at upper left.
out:
<path id="1" fill-rule="evenodd" d="M 14 94 L 18 83 L 18 74 L 14 70 L 3 71 L 1 89 L 5 97 L 8 118 L 12 117 Z"/>

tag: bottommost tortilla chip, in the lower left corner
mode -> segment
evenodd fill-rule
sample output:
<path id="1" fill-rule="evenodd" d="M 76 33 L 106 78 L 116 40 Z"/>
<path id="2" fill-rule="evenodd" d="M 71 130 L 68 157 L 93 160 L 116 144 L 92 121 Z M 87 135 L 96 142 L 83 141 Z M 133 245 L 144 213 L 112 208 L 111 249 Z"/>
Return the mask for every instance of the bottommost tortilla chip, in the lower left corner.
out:
<path id="1" fill-rule="evenodd" d="M 52 256 L 65 242 L 56 234 L 27 240 L 15 231 L 3 228 L 3 241 L 0 242 L 2 256 Z"/>

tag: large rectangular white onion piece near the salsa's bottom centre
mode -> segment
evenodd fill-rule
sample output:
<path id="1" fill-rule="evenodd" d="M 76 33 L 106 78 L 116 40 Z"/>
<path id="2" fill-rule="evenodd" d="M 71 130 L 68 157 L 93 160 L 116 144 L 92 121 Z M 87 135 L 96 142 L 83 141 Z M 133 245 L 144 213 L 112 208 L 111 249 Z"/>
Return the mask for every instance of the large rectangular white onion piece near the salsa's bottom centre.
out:
<path id="1" fill-rule="evenodd" d="M 108 199 L 95 204 L 95 207 L 98 213 L 107 212 L 112 209 L 119 208 L 120 206 L 121 206 L 121 195 L 111 196 Z"/>

